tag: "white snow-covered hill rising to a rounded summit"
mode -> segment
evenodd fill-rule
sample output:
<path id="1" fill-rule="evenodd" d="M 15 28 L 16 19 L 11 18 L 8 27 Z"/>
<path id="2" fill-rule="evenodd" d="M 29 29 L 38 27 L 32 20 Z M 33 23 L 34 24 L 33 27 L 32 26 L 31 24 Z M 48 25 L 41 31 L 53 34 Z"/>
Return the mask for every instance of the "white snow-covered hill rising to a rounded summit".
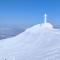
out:
<path id="1" fill-rule="evenodd" d="M 0 40 L 0 60 L 60 60 L 60 30 L 50 23 L 37 24 L 25 32 Z"/>

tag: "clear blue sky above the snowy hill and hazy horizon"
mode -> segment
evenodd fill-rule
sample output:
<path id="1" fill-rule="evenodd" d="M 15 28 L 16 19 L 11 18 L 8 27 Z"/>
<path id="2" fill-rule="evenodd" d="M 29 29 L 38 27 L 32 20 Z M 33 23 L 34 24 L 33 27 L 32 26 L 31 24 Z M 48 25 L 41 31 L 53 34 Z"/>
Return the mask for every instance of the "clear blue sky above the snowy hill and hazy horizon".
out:
<path id="1" fill-rule="evenodd" d="M 60 25 L 59 0 L 0 0 L 0 25 L 27 27 L 43 22 L 44 13 Z"/>

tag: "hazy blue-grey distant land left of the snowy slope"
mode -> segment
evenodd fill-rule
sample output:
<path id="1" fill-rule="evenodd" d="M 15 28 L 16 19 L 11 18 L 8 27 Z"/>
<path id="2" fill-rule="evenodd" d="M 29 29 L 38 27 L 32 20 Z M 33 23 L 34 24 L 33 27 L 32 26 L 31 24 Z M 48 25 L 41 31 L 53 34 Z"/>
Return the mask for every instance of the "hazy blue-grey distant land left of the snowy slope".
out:
<path id="1" fill-rule="evenodd" d="M 0 40 L 9 38 L 9 37 L 13 37 L 23 31 L 24 31 L 24 29 L 22 29 L 22 28 L 0 26 Z"/>

